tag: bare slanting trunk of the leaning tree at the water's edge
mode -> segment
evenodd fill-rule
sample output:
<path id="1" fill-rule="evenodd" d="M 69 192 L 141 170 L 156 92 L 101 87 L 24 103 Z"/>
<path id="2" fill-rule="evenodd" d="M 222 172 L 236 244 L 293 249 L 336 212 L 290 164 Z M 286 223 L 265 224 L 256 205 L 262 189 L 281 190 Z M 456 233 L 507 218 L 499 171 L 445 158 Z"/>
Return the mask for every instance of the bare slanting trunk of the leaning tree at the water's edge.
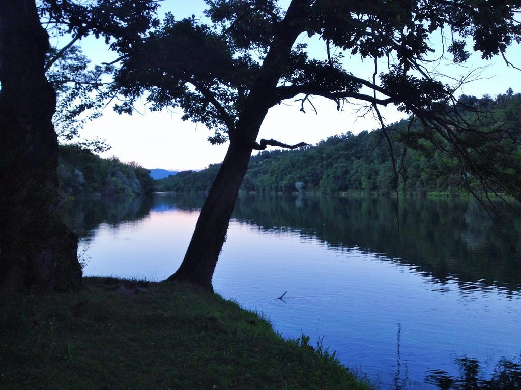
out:
<path id="1" fill-rule="evenodd" d="M 187 253 L 179 269 L 168 280 L 195 283 L 213 290 L 212 276 L 226 240 L 239 187 L 246 174 L 261 124 L 273 105 L 275 88 L 281 74 L 287 69 L 291 47 L 304 31 L 295 21 L 305 14 L 306 4 L 306 0 L 292 0 L 286 16 L 277 26 L 262 69 L 242 105 L 237 124 L 230 129 L 230 147 L 206 197 Z"/>

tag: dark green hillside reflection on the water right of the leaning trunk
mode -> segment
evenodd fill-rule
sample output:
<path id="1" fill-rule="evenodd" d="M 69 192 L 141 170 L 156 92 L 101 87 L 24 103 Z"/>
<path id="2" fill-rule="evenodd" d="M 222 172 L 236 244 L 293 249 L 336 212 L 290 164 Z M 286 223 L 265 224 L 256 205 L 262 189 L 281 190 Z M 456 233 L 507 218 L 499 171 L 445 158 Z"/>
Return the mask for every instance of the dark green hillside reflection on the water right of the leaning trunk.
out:
<path id="1" fill-rule="evenodd" d="M 234 217 L 266 230 L 297 229 L 333 248 L 381 253 L 462 289 L 497 285 L 517 291 L 521 267 L 485 211 L 464 199 L 240 197 Z M 514 221 L 519 224 L 519 220 Z M 512 222 L 512 223 L 514 223 Z"/>

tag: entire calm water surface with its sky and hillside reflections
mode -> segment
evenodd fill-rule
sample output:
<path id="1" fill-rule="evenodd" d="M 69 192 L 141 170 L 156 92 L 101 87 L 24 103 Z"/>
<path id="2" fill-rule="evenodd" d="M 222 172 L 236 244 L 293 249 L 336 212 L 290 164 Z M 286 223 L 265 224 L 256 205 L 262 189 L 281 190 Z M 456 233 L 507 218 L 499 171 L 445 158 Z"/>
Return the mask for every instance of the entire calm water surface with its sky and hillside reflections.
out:
<path id="1" fill-rule="evenodd" d="M 77 204 L 84 274 L 167 278 L 203 201 Z M 244 196 L 213 283 L 382 389 L 521 388 L 521 263 L 475 202 L 406 199 L 396 217 L 389 198 Z"/>

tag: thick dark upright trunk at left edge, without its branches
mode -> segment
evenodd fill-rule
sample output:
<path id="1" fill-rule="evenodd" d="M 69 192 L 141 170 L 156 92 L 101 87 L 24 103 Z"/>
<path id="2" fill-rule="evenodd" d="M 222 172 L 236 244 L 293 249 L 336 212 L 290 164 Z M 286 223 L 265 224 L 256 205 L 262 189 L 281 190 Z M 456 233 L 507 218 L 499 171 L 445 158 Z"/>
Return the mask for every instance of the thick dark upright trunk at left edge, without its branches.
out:
<path id="1" fill-rule="evenodd" d="M 34 0 L 0 0 L 0 292 L 81 284 L 78 238 L 57 209 L 56 95 Z"/>

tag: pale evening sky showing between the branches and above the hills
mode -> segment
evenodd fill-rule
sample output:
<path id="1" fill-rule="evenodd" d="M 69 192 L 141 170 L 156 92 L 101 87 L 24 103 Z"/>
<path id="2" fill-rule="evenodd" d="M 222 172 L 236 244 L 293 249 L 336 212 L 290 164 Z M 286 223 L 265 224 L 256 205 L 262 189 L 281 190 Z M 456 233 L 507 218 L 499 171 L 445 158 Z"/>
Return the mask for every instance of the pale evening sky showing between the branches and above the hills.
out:
<path id="1" fill-rule="evenodd" d="M 288 0 L 281 1 L 281 6 L 287 6 Z M 176 19 L 195 15 L 203 18 L 205 8 L 202 0 L 164 0 L 159 8 L 159 16 L 170 11 Z M 439 45 L 438 36 L 432 37 L 432 46 Z M 325 57 L 325 44 L 317 39 L 310 40 L 306 35 L 297 39 L 296 43 L 307 43 L 309 52 L 316 58 Z M 110 53 L 102 41 L 88 37 L 80 42 L 84 53 L 93 63 L 108 62 L 116 56 Z M 469 47 L 472 48 L 472 45 Z M 507 58 L 517 66 L 521 65 L 521 47 L 513 45 L 507 50 Z M 362 62 L 358 57 L 344 60 L 346 68 L 355 75 L 370 79 L 374 71 L 372 60 Z M 385 63 L 380 66 L 383 69 Z M 494 58 L 490 62 L 481 60 L 479 54 L 473 54 L 464 66 L 439 63 L 438 69 L 445 74 L 460 77 L 469 70 L 487 66 L 480 74 L 480 80 L 464 85 L 456 96 L 461 94 L 481 97 L 483 94 L 495 96 L 505 93 L 512 87 L 515 93 L 521 92 L 519 81 L 521 72 L 506 66 L 501 58 Z M 177 108 L 163 112 L 151 112 L 144 105 L 145 101 L 137 105 L 139 112 L 132 116 L 115 113 L 111 108 L 105 109 L 104 115 L 85 125 L 81 136 L 86 139 L 99 137 L 105 139 L 111 149 L 102 157 L 117 157 L 123 162 L 135 161 L 146 168 L 165 168 L 169 170 L 200 170 L 211 163 L 218 163 L 224 159 L 228 143 L 211 145 L 207 137 L 213 132 L 204 125 L 181 120 L 182 111 Z M 275 138 L 287 144 L 296 144 L 305 141 L 316 144 L 321 139 L 334 134 L 348 131 L 358 133 L 378 127 L 373 118 L 358 118 L 356 107 L 345 106 L 338 112 L 336 103 L 324 98 L 313 98 L 318 114 L 307 107 L 306 113 L 300 112 L 300 102 L 284 101 L 283 105 L 271 108 L 261 127 L 257 140 L 261 138 Z M 404 118 L 394 107 L 382 111 L 387 123 Z"/>

